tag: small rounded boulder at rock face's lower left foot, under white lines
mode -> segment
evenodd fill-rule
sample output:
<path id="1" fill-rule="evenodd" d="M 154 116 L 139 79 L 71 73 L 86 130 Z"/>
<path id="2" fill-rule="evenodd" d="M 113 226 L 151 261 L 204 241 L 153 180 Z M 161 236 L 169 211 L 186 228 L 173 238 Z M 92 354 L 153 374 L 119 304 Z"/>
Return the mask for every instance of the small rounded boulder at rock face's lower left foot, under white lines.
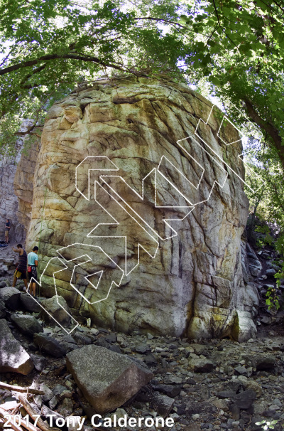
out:
<path id="1" fill-rule="evenodd" d="M 61 325 L 64 325 L 64 326 L 70 325 L 71 323 L 70 309 L 67 306 L 67 302 L 63 297 L 55 295 L 52 298 L 43 299 L 43 301 L 40 304 L 46 310 L 46 312 L 49 313 L 49 314 L 46 313 L 43 309 L 41 309 L 40 311 L 40 316 L 43 317 L 43 320 L 45 321 L 45 323 L 55 324 L 55 320 L 56 320 Z"/>

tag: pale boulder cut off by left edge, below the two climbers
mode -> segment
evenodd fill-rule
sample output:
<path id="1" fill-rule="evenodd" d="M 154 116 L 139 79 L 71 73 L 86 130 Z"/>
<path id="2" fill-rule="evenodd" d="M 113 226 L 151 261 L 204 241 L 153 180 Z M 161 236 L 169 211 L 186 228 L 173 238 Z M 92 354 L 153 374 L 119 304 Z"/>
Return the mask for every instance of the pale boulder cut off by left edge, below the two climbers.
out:
<path id="1" fill-rule="evenodd" d="M 0 320 L 0 373 L 27 375 L 33 371 L 33 361 L 14 338 L 6 320 Z"/>

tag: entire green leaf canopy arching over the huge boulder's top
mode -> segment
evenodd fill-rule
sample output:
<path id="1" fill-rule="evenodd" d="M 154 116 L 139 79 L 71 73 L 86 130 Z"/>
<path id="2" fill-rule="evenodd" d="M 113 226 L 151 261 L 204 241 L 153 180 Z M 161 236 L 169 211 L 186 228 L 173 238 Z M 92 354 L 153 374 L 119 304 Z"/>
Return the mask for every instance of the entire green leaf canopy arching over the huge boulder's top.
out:
<path id="1" fill-rule="evenodd" d="M 100 6 L 101 5 L 101 6 Z M 38 112 L 99 71 L 207 80 L 263 130 L 284 167 L 282 2 L 2 0 L 1 117 Z M 231 106 L 236 124 L 239 113 Z M 36 117 L 36 115 L 35 115 Z M 1 124 L 0 124 L 1 127 Z"/>

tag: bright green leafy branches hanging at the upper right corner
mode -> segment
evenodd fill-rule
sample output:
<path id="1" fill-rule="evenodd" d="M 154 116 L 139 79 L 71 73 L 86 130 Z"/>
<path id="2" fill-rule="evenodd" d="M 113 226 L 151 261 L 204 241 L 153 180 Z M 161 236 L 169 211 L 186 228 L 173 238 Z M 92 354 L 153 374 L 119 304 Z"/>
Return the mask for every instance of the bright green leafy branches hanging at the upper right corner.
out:
<path id="1" fill-rule="evenodd" d="M 284 166 L 284 5 L 278 1 L 208 1 L 192 23 L 190 60 L 198 78 L 214 85 L 256 123 Z M 192 72 L 189 70 L 192 75 Z M 230 112 L 238 122 L 239 114 Z"/>

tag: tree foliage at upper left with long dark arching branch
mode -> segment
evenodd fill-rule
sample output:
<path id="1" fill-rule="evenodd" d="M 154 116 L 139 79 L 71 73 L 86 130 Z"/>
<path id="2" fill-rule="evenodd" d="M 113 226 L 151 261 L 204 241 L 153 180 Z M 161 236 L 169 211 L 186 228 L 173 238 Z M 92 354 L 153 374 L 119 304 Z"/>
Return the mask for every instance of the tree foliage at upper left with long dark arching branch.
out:
<path id="1" fill-rule="evenodd" d="M 1 95 L 2 142 L 15 132 L 21 119 L 35 124 L 48 105 L 70 92 L 80 80 L 97 73 L 178 71 L 177 53 L 182 41 L 174 34 L 146 25 L 134 11 L 107 0 L 1 1 Z M 175 6 L 177 7 L 177 6 Z M 170 1 L 160 11 L 160 21 Z M 173 15 L 173 14 L 172 14 Z"/>

